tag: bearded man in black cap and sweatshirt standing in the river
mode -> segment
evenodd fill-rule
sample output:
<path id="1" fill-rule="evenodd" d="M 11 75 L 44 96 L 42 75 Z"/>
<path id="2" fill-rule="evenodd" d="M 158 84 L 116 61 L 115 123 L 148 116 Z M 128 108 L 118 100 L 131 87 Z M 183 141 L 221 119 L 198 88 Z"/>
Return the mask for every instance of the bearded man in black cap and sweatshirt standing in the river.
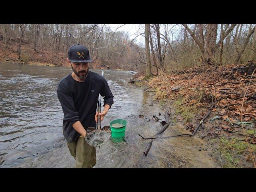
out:
<path id="1" fill-rule="evenodd" d="M 67 62 L 73 72 L 58 83 L 57 94 L 64 113 L 63 135 L 76 160 L 76 168 L 92 168 L 96 164 L 96 148 L 85 141 L 88 127 L 95 127 L 114 103 L 108 82 L 100 74 L 89 71 L 92 59 L 89 50 L 76 44 L 69 48 Z M 96 112 L 99 94 L 104 98 L 104 110 Z"/>

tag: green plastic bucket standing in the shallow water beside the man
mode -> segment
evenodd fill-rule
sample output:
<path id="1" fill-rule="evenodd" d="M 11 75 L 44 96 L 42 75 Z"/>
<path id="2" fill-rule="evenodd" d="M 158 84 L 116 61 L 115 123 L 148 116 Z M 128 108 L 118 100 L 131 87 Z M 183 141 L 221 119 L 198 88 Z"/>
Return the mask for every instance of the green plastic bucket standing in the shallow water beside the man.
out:
<path id="1" fill-rule="evenodd" d="M 122 124 L 123 126 L 114 128 L 114 127 L 112 127 L 112 125 L 115 123 Z M 114 141 L 120 142 L 120 141 L 124 140 L 126 125 L 127 125 L 127 121 L 124 119 L 115 119 L 110 122 L 111 136 Z"/>

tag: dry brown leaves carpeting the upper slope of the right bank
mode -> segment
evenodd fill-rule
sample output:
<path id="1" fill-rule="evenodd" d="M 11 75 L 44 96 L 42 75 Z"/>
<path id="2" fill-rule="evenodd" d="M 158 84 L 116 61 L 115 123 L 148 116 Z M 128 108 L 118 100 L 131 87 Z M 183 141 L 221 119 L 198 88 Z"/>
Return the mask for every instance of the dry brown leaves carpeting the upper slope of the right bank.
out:
<path id="1" fill-rule="evenodd" d="M 167 92 L 167 98 L 177 100 L 184 98 L 188 105 L 210 106 L 211 101 L 202 100 L 195 102 L 204 93 L 206 96 L 222 98 L 217 104 L 219 115 L 228 115 L 229 118 L 239 119 L 242 100 L 250 78 L 247 74 L 230 70 L 239 66 L 229 65 L 219 68 L 190 68 L 183 74 L 160 74 L 148 82 L 152 89 L 159 88 Z M 172 88 L 180 89 L 172 91 Z M 186 104 L 186 105 L 187 105 Z M 215 109 L 213 109 L 215 111 Z M 243 121 L 256 118 L 256 79 L 252 78 L 251 85 L 246 93 L 242 109 Z"/>

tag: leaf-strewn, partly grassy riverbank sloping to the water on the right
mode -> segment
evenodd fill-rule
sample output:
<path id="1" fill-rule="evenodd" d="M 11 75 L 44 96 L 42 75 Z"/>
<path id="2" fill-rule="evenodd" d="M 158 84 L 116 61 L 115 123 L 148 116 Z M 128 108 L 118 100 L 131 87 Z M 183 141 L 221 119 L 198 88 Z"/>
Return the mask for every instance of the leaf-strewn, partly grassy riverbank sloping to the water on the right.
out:
<path id="1" fill-rule="evenodd" d="M 251 152 L 256 153 L 256 78 L 252 78 L 243 104 L 244 136 L 240 109 L 250 78 L 242 67 L 190 68 L 160 74 L 149 80 L 143 80 L 144 75 L 137 74 L 135 84 L 151 94 L 163 110 L 171 107 L 174 122 L 182 124 L 180 131 L 186 130 L 190 134 L 215 100 L 220 99 L 194 137 L 208 143 L 212 151 L 209 155 L 219 166 L 251 168 L 254 167 Z"/>

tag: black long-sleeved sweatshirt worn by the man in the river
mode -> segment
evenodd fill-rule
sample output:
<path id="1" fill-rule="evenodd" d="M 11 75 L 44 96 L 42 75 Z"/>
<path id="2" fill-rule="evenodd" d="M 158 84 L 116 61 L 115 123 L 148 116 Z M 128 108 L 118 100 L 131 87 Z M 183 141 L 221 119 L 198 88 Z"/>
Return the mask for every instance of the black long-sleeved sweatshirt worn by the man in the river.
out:
<path id="1" fill-rule="evenodd" d="M 86 130 L 88 127 L 96 128 L 94 116 L 99 94 L 104 99 L 104 105 L 109 104 L 111 107 L 114 103 L 106 79 L 92 71 L 88 71 L 84 82 L 78 82 L 71 73 L 68 74 L 58 83 L 57 94 L 64 113 L 63 135 L 68 142 L 75 142 L 81 136 L 72 126 L 78 120 Z"/>

